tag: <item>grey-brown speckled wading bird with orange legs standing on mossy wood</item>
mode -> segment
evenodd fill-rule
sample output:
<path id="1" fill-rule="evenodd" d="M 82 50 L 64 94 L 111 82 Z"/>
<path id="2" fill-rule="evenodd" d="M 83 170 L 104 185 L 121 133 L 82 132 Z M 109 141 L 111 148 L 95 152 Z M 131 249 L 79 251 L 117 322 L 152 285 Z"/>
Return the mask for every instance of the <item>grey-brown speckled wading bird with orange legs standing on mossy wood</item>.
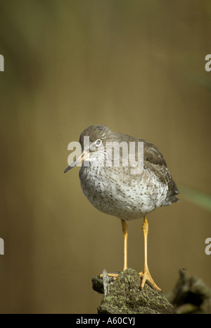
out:
<path id="1" fill-rule="evenodd" d="M 106 125 L 92 125 L 79 136 L 81 154 L 64 173 L 80 165 L 79 180 L 84 195 L 96 209 L 121 220 L 124 237 L 124 265 L 127 269 L 127 221 L 143 218 L 143 270 L 146 280 L 155 284 L 148 269 L 148 219 L 158 207 L 178 202 L 179 190 L 167 169 L 165 158 L 155 145 L 141 138 L 116 133 Z M 118 274 L 110 273 L 116 278 Z"/>

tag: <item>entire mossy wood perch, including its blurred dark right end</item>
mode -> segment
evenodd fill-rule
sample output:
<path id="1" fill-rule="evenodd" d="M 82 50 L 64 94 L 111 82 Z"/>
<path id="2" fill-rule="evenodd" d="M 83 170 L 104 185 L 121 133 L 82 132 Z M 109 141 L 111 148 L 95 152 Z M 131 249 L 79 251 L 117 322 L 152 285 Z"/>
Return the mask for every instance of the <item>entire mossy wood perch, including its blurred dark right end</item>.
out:
<path id="1" fill-rule="evenodd" d="M 179 279 L 172 292 L 165 296 L 148 281 L 141 290 L 141 278 L 134 269 L 115 272 L 117 279 L 94 277 L 94 291 L 103 293 L 98 313 L 148 314 L 148 313 L 211 313 L 211 289 L 202 279 L 189 276 L 185 269 L 179 270 Z"/>

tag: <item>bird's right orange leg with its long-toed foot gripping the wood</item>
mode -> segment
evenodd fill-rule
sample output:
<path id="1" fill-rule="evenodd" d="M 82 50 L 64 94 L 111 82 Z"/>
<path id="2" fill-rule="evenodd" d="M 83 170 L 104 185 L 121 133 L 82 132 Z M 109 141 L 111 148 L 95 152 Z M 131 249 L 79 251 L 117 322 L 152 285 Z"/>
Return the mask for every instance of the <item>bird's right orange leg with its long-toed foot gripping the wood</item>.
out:
<path id="1" fill-rule="evenodd" d="M 151 284 L 158 289 L 158 291 L 161 291 L 161 289 L 155 284 L 153 281 L 151 274 L 148 269 L 147 264 L 147 237 L 148 237 L 148 221 L 146 217 L 143 217 L 143 242 L 144 242 L 144 265 L 143 265 L 143 271 L 139 272 L 139 275 L 141 277 L 141 289 L 144 287 L 146 280 L 150 281 Z"/>

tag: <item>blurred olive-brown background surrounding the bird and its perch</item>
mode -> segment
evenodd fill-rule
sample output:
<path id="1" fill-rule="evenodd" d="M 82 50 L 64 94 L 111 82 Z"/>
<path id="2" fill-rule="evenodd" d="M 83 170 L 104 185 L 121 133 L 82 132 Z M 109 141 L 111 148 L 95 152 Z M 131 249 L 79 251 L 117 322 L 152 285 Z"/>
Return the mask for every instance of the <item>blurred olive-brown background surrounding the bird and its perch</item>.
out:
<path id="1" fill-rule="evenodd" d="M 122 270 L 120 220 L 63 174 L 92 124 L 153 142 L 180 202 L 148 214 L 148 262 L 164 293 L 186 267 L 210 283 L 210 0 L 4 0 L 0 4 L 1 313 L 96 313 L 91 278 Z M 187 193 L 188 195 L 188 193 Z M 129 267 L 143 269 L 143 220 Z"/>

